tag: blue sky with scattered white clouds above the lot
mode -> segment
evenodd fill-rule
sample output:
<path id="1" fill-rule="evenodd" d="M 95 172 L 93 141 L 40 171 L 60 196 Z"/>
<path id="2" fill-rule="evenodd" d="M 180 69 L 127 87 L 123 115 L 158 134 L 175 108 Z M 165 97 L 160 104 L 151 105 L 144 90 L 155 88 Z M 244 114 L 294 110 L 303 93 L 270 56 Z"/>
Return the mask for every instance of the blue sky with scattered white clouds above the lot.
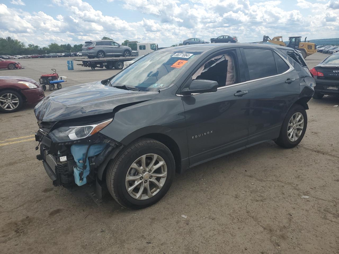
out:
<path id="1" fill-rule="evenodd" d="M 26 45 L 80 44 L 108 36 L 171 46 L 220 35 L 339 37 L 339 0 L 1 0 L 0 37 Z"/>

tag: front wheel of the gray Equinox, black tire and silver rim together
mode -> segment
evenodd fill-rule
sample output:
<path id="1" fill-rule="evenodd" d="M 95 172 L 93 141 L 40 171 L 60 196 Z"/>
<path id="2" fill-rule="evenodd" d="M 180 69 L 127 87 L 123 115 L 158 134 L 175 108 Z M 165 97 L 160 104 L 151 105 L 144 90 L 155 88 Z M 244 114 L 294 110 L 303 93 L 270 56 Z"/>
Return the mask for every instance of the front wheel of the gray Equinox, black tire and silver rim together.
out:
<path id="1" fill-rule="evenodd" d="M 158 202 L 174 179 L 171 151 L 154 139 L 138 139 L 107 167 L 109 193 L 123 207 L 141 209 Z"/>

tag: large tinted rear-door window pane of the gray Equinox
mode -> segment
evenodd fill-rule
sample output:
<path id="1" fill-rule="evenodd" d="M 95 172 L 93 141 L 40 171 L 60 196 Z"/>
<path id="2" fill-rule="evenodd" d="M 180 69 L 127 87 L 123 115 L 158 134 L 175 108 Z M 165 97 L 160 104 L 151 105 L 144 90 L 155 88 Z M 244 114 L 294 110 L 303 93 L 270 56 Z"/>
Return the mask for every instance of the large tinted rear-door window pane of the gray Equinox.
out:
<path id="1" fill-rule="evenodd" d="M 277 75 L 277 68 L 270 49 L 244 48 L 250 80 Z"/>

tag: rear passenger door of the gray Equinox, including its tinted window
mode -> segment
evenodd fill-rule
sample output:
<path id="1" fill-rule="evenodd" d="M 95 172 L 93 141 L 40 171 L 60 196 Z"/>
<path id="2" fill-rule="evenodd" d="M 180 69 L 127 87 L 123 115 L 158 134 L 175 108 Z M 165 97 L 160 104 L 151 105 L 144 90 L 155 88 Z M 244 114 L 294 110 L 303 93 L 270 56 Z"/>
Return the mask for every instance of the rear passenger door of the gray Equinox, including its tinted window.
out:
<path id="1" fill-rule="evenodd" d="M 299 75 L 271 49 L 242 48 L 248 81 L 248 145 L 279 136 L 282 121 L 300 93 Z"/>

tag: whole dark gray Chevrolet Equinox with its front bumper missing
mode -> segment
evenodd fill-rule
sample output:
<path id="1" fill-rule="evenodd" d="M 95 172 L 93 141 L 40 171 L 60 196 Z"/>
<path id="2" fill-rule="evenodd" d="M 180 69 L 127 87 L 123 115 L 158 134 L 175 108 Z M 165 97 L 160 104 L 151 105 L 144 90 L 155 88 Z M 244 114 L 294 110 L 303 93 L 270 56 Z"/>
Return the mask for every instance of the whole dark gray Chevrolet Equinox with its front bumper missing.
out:
<path id="1" fill-rule="evenodd" d="M 122 206 L 144 208 L 176 172 L 270 140 L 297 146 L 314 85 L 301 54 L 287 47 L 157 50 L 40 102 L 37 159 L 54 186 L 96 185 L 97 199 L 108 188 Z"/>

